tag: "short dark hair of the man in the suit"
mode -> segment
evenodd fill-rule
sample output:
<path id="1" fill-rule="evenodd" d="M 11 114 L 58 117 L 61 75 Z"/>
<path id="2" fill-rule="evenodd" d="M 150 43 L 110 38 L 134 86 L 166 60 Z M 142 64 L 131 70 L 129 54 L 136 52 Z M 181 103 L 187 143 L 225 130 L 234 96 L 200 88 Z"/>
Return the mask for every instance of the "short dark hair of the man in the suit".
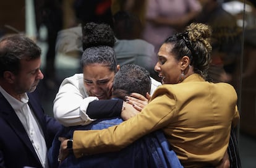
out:
<path id="1" fill-rule="evenodd" d="M 24 35 L 6 36 L 0 41 L 0 77 L 10 71 L 18 74 L 20 59 L 33 60 L 41 56 L 41 49 Z"/>

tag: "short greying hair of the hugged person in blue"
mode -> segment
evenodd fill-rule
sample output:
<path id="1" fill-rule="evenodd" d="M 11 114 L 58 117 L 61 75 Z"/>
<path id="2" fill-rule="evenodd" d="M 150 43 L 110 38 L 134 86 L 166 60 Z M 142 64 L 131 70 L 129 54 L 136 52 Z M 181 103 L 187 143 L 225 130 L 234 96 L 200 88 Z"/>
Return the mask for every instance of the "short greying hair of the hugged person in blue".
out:
<path id="1" fill-rule="evenodd" d="M 146 96 L 150 93 L 151 80 L 149 72 L 139 65 L 122 65 L 117 71 L 113 82 L 113 95 L 124 99 L 123 97 L 130 93 L 140 93 Z"/>

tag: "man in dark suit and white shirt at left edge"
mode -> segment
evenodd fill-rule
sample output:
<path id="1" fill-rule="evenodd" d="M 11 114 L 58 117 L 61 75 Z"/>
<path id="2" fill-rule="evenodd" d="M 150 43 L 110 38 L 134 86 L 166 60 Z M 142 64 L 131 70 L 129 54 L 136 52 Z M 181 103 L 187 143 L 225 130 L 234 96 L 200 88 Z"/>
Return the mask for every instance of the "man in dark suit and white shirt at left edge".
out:
<path id="1" fill-rule="evenodd" d="M 0 167 L 48 167 L 46 153 L 60 124 L 36 96 L 41 49 L 22 35 L 0 41 Z"/>

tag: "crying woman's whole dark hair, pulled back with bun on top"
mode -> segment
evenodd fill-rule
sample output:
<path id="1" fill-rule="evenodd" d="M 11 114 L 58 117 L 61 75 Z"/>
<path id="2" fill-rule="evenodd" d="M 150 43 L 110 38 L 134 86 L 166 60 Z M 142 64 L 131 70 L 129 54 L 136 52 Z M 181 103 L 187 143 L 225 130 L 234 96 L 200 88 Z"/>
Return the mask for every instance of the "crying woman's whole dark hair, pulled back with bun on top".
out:
<path id="1" fill-rule="evenodd" d="M 117 61 L 113 49 L 115 38 L 111 27 L 104 23 L 90 22 L 82 30 L 84 51 L 80 60 L 81 66 L 103 64 L 109 67 L 109 70 L 116 72 Z"/>

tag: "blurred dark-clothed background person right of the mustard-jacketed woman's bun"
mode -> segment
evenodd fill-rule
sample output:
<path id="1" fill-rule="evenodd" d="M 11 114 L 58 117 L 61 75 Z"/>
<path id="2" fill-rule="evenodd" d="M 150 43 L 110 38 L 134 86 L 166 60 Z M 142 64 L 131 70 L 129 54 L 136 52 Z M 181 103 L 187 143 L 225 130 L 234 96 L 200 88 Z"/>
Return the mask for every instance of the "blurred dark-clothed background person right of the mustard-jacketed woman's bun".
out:
<path id="1" fill-rule="evenodd" d="M 211 82 L 233 83 L 237 57 L 241 52 L 242 30 L 237 26 L 234 15 L 225 11 L 223 1 L 200 0 L 203 10 L 197 17 L 197 22 L 207 23 L 213 29 L 211 45 L 211 65 L 208 79 Z"/>

